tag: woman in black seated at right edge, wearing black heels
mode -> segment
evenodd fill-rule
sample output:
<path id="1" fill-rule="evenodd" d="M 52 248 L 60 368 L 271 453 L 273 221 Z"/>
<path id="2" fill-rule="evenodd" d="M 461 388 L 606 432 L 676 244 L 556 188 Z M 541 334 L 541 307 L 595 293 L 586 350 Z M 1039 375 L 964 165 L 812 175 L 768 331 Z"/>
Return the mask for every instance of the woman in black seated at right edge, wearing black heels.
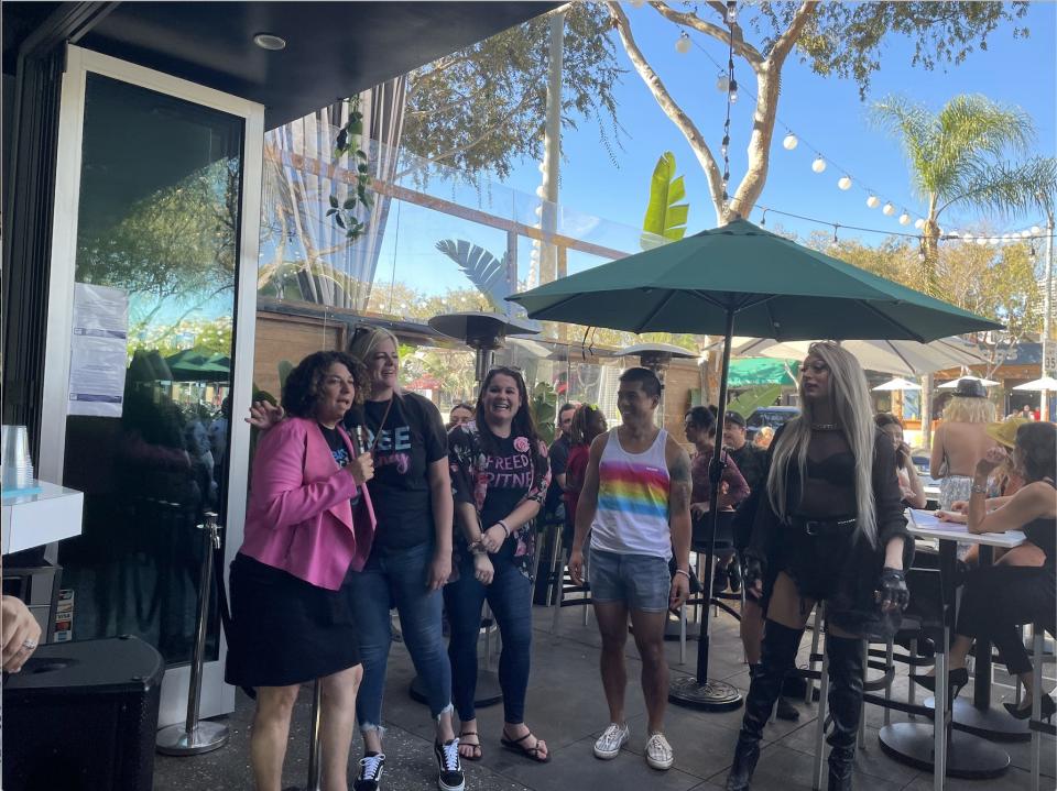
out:
<path id="1" fill-rule="evenodd" d="M 1005 459 L 1005 451 L 993 448 L 977 462 L 969 497 L 967 524 L 969 532 L 1006 532 L 1023 530 L 1039 547 L 1046 559 L 1042 567 L 987 565 L 973 569 L 966 576 L 958 612 L 956 636 L 950 647 L 950 684 L 954 694 L 969 681 L 966 657 L 974 638 L 995 645 L 1010 675 L 1020 678 L 1025 696 L 1017 706 L 1005 707 L 1017 719 L 1032 712 L 1032 699 L 1042 694 L 1043 717 L 1055 712 L 1054 699 L 1035 690 L 1032 661 L 1024 648 L 1017 626 L 1040 624 L 1047 631 L 1057 630 L 1057 426 L 1051 422 L 1027 422 L 1016 430 L 1013 463 L 1024 476 L 1025 485 L 1012 497 L 993 498 L 996 505 L 988 510 L 988 476 Z M 915 677 L 928 689 L 935 689 L 930 675 Z"/>

